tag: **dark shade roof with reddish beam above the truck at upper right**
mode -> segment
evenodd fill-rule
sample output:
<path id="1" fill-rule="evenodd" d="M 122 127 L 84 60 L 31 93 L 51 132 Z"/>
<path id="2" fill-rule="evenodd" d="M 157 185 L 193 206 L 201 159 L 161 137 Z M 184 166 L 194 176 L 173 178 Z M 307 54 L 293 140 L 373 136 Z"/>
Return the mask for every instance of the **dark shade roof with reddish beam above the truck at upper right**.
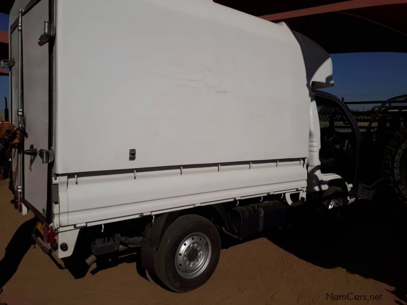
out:
<path id="1" fill-rule="evenodd" d="M 407 52 L 407 0 L 215 0 L 279 22 L 329 53 Z"/>

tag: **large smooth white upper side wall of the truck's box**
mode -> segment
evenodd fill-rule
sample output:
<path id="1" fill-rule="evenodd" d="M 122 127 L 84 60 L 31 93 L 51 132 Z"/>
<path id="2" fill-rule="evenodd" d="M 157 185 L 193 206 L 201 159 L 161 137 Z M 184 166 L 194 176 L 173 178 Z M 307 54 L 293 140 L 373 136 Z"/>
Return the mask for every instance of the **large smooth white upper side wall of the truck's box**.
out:
<path id="1" fill-rule="evenodd" d="M 56 20 L 56 173 L 307 157 L 287 27 L 210 0 L 58 0 Z"/>

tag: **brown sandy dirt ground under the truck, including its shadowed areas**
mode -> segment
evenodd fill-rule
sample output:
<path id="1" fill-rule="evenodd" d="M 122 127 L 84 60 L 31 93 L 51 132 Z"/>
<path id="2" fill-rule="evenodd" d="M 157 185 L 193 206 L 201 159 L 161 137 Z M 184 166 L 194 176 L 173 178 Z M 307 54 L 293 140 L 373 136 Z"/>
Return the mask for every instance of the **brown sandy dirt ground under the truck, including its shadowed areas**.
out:
<path id="1" fill-rule="evenodd" d="M 131 257 L 75 279 L 30 242 L 32 214 L 21 217 L 0 182 L 0 303 L 45 304 L 406 304 L 404 212 L 363 203 L 339 229 L 308 222 L 223 249 L 201 288 L 169 292 L 140 276 Z M 332 230 L 332 231 L 331 231 Z M 13 237 L 14 236 L 14 237 Z M 6 252 L 7 247 L 7 252 Z M 93 274 L 92 274 L 93 273 Z M 331 300 L 347 295 L 379 300 Z M 340 298 L 340 297 L 339 297 Z M 362 297 L 363 298 L 363 297 Z"/>

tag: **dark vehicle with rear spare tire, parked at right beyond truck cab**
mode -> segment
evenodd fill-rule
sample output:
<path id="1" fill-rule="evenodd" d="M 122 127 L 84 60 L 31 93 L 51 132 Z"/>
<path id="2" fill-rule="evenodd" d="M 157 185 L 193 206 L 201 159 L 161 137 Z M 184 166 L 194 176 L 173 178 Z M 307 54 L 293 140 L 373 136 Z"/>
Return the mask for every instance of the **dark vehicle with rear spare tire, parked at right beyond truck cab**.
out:
<path id="1" fill-rule="evenodd" d="M 376 105 L 367 111 L 352 112 L 363 135 L 358 198 L 372 200 L 380 194 L 389 197 L 393 192 L 400 202 L 407 202 L 407 95 L 347 104 Z"/>

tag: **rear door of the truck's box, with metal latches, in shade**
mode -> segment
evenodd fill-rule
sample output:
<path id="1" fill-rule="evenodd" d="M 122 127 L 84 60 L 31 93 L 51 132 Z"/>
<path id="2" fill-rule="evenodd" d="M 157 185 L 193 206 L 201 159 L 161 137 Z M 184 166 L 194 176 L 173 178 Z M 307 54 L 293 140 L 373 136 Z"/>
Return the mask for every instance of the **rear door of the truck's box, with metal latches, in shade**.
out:
<path id="1" fill-rule="evenodd" d="M 22 190 L 22 198 L 26 206 L 34 210 L 39 218 L 49 222 L 50 211 L 47 206 L 51 196 L 52 156 L 49 156 L 50 128 L 52 127 L 52 104 L 50 100 L 50 67 L 52 57 L 51 43 L 42 46 L 38 41 L 44 34 L 44 21 L 49 21 L 49 0 L 31 2 L 21 14 L 22 75 L 12 78 L 12 88 L 18 91 L 14 82 L 22 81 L 22 99 L 20 107 L 22 116 L 18 118 L 25 128 L 27 137 L 20 149 L 20 158 L 13 157 L 14 189 Z M 15 31 L 18 35 L 18 28 Z M 12 40 L 13 35 L 12 33 Z M 11 53 L 14 46 L 12 44 Z M 13 67 L 14 68 L 14 67 Z M 21 71 L 21 70 L 20 70 Z M 18 73 L 17 73 L 18 74 Z M 19 93 L 16 93 L 18 97 Z M 14 95 L 13 95 L 14 97 Z M 14 98 L 13 98 L 14 102 Z M 17 107 L 13 107 L 13 110 Z M 18 110 L 17 110 L 18 111 Z M 13 113 L 13 119 L 15 114 Z M 15 153 L 13 153 L 14 155 Z M 17 154 L 18 155 L 18 154 Z M 42 158 L 43 156 L 48 157 Z M 44 162 L 45 161 L 45 162 Z M 14 177 L 16 175 L 16 177 Z M 21 188 L 19 188 L 21 187 Z"/>

